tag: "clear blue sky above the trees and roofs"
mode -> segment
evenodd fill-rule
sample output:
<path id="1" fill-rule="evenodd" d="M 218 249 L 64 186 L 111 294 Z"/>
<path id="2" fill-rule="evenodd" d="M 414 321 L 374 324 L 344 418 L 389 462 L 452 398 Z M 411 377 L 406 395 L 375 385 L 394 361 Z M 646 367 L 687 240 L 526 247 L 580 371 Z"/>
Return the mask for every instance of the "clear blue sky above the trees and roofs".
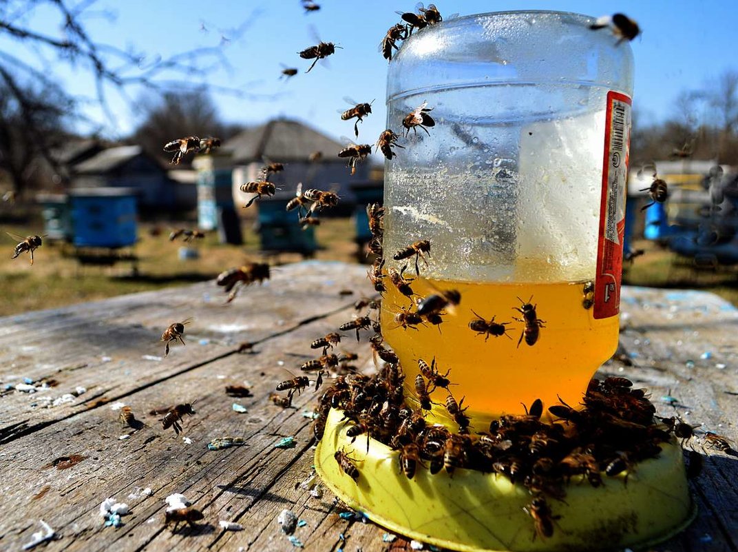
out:
<path id="1" fill-rule="evenodd" d="M 213 99 L 224 120 L 261 123 L 284 115 L 311 123 L 333 137 L 353 134 L 351 123 L 341 121 L 337 110 L 347 109 L 342 98 L 376 99 L 373 114 L 365 120 L 359 141 L 376 140 L 384 129 L 384 94 L 387 61 L 377 51 L 387 28 L 399 21 L 396 10 L 412 11 L 413 0 L 316 0 L 322 9 L 305 14 L 298 0 L 204 1 L 204 0 L 98 0 L 89 10 L 106 10 L 114 18 L 89 17 L 93 36 L 118 47 L 134 45 L 153 54 L 171 55 L 194 47 L 215 46 L 221 35 L 233 36 L 233 27 L 246 24 L 241 38 L 222 48 L 230 69 L 218 69 L 209 81 L 217 86 L 240 89 L 255 95 L 278 93 L 277 98 L 237 98 L 215 94 Z M 615 11 L 638 21 L 643 35 L 631 43 L 635 55 L 634 108 L 641 120 L 663 120 L 673 112 L 677 94 L 705 86 L 726 69 L 738 69 L 734 45 L 738 21 L 737 1 L 717 0 L 599 0 L 512 1 L 466 0 L 435 2 L 441 13 L 469 15 L 502 10 L 562 10 L 601 16 Z M 58 21 L 39 11 L 35 28 L 58 34 Z M 308 74 L 309 61 L 299 50 L 315 44 L 310 27 L 324 41 L 343 50 L 320 63 Z M 0 48 L 8 47 L 0 41 Z M 18 55 L 28 56 L 23 52 Z M 300 73 L 289 81 L 279 80 L 280 63 Z M 92 81 L 80 70 L 55 64 L 72 93 L 92 95 Z M 132 94 L 136 97 L 136 92 Z M 137 122 L 131 103 L 115 95 L 111 105 L 116 125 L 106 133 L 124 136 Z M 88 113 L 103 120 L 94 106 Z M 193 129 L 207 134 L 207 131 Z"/>

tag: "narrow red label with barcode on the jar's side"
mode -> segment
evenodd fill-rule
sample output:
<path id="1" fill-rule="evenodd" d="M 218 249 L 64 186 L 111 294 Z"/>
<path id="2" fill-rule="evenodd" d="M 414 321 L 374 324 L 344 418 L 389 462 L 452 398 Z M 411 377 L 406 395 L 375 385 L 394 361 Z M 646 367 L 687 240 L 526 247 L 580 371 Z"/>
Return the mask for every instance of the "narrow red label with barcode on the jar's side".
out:
<path id="1" fill-rule="evenodd" d="M 631 100 L 627 95 L 607 92 L 593 310 L 595 318 L 608 318 L 620 312 L 625 193 L 630 163 L 630 105 Z"/>

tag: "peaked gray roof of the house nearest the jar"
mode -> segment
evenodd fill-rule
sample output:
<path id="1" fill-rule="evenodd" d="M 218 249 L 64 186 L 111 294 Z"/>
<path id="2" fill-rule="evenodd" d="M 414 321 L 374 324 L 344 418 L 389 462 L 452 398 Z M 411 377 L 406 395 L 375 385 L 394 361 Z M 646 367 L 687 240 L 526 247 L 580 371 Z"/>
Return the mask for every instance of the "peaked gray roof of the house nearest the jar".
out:
<path id="1" fill-rule="evenodd" d="M 344 147 L 297 120 L 275 119 L 236 134 L 222 151 L 230 153 L 234 163 L 261 162 L 263 157 L 281 163 L 306 160 L 313 151 L 323 151 L 323 160 L 331 160 Z"/>

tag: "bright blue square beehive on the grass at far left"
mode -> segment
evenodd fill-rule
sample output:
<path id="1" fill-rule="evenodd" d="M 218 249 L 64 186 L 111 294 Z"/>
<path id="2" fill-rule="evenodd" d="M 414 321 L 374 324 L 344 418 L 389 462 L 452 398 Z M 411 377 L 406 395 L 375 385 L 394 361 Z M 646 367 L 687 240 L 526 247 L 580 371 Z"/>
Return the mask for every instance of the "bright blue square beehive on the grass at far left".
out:
<path id="1" fill-rule="evenodd" d="M 72 243 L 77 247 L 124 248 L 137 240 L 134 188 L 77 188 L 69 192 Z"/>

